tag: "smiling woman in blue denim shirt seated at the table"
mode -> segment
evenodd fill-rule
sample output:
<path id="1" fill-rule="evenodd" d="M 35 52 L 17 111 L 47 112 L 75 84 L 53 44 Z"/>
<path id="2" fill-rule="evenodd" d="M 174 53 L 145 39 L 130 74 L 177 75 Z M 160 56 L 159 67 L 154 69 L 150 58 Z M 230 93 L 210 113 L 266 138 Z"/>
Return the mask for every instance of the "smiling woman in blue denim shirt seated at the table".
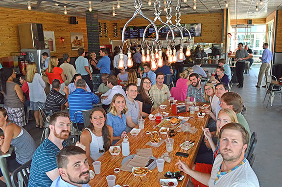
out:
<path id="1" fill-rule="evenodd" d="M 114 95 L 109 108 L 109 113 L 107 114 L 107 125 L 112 126 L 114 129 L 113 145 L 115 145 L 118 140 L 126 136 L 126 112 L 127 106 L 123 95 Z"/>

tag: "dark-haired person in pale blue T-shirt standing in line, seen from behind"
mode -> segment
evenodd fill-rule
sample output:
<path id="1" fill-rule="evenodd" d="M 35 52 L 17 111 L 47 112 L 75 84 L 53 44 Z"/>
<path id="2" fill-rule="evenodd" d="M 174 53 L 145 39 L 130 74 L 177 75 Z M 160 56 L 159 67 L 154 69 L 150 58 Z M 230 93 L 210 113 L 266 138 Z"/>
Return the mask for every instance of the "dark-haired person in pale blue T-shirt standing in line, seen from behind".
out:
<path id="1" fill-rule="evenodd" d="M 81 74 L 82 79 L 84 79 L 89 85 L 90 90 L 93 92 L 93 83 L 92 83 L 92 74 L 89 69 L 89 63 L 85 56 L 85 52 L 83 48 L 77 50 L 78 58 L 75 60 L 75 67 L 77 73 Z"/>

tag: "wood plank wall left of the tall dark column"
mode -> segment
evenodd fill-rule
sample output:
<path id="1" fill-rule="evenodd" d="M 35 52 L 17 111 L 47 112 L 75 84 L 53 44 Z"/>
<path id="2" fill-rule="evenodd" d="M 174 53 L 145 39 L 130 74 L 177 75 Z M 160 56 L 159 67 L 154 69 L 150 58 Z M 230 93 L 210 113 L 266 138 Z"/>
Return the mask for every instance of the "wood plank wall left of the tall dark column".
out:
<path id="1" fill-rule="evenodd" d="M 55 55 L 58 58 L 62 58 L 64 53 L 68 53 L 71 57 L 78 56 L 77 51 L 71 50 L 70 32 L 82 32 L 85 50 L 88 50 L 85 18 L 76 17 L 78 24 L 73 25 L 69 23 L 69 15 L 2 7 L 0 7 L 0 18 L 0 58 L 11 56 L 12 52 L 20 52 L 18 24 L 29 22 L 43 23 L 43 31 L 54 31 L 56 52 L 51 52 L 51 55 Z M 65 42 L 61 42 L 61 37 L 65 38 Z"/>

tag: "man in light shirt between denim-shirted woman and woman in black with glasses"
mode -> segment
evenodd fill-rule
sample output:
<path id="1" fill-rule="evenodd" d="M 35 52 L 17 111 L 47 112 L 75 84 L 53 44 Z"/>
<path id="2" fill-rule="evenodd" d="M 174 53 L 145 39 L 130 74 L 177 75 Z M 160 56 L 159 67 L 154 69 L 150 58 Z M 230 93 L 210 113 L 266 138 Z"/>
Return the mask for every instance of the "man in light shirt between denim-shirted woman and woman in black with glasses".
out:
<path id="1" fill-rule="evenodd" d="M 135 83 L 129 83 L 126 85 L 126 106 L 128 108 L 125 118 L 126 118 L 126 131 L 128 132 L 132 128 L 136 127 L 138 125 L 138 120 L 141 118 L 140 110 L 139 110 L 139 104 L 137 101 L 135 101 L 135 98 L 137 97 L 138 90 L 137 85 Z"/>

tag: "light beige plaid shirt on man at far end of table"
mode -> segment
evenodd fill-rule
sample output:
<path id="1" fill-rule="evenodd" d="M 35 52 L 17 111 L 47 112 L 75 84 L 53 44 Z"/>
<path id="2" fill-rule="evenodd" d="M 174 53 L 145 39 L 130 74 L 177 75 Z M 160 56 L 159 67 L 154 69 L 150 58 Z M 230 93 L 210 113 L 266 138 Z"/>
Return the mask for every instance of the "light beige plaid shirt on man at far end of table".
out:
<path id="1" fill-rule="evenodd" d="M 158 108 L 165 100 L 167 100 L 171 94 L 166 84 L 163 84 L 162 89 L 158 89 L 157 84 L 152 85 L 149 90 L 150 96 L 154 101 L 154 108 Z"/>

